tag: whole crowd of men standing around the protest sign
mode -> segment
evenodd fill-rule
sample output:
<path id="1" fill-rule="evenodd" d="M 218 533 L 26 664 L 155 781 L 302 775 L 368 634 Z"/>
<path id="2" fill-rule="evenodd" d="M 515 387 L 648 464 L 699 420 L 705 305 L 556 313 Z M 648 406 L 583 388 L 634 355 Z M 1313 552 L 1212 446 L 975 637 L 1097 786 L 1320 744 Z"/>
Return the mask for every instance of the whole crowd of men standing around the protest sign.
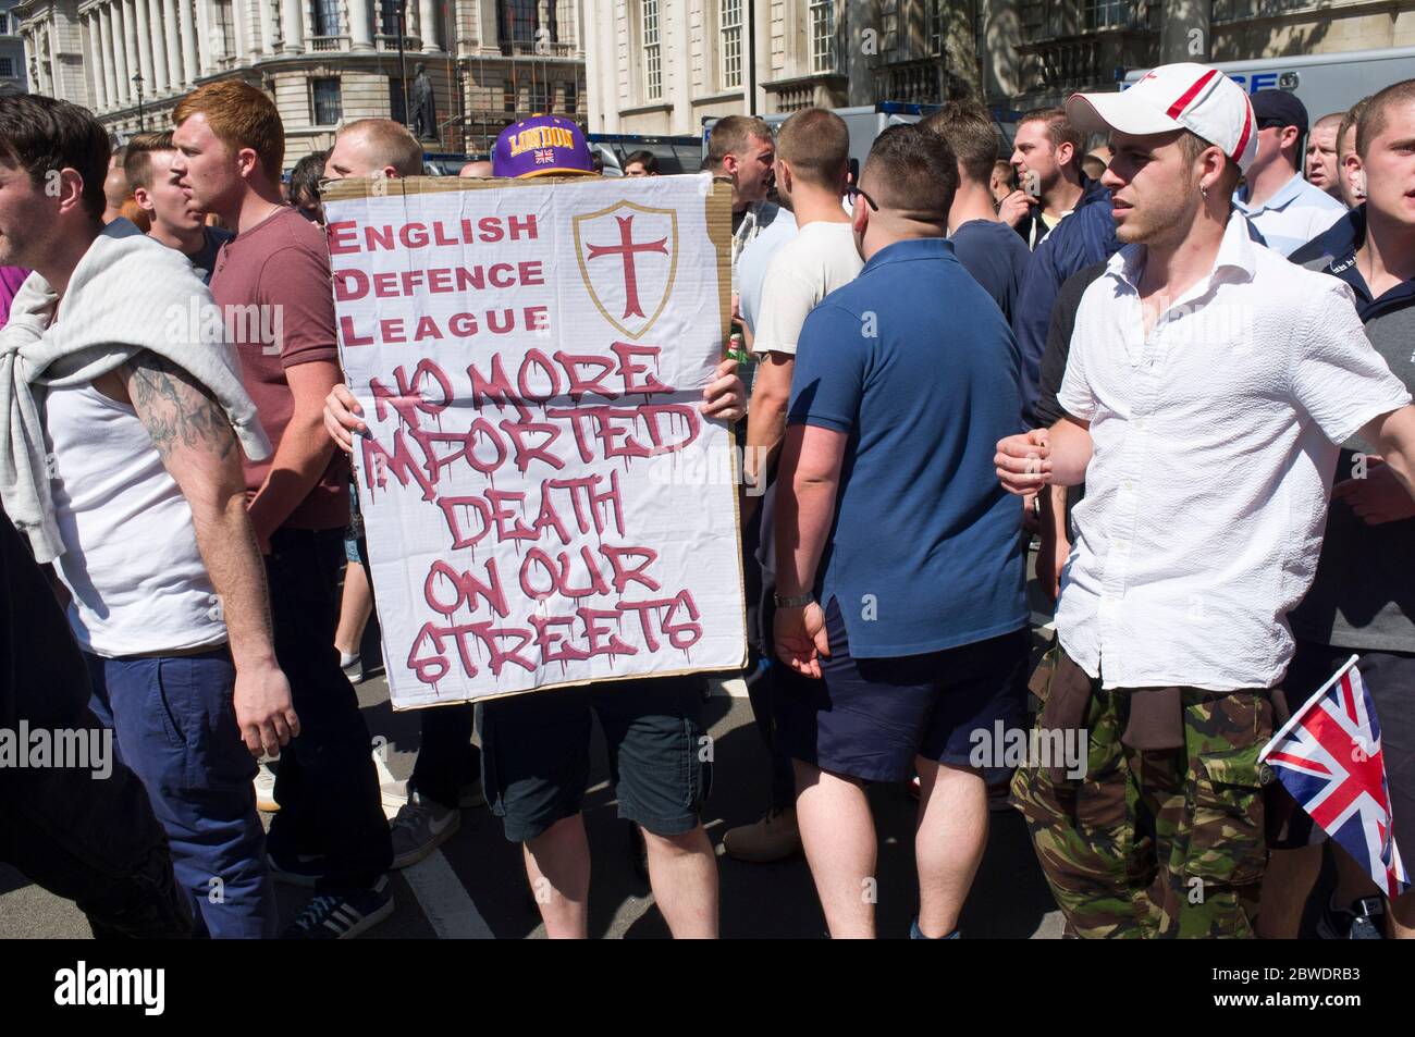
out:
<path id="1" fill-rule="evenodd" d="M 563 130 L 553 161 L 511 147 L 528 127 Z M 873 937 L 866 789 L 899 782 L 913 938 L 961 935 L 996 809 L 1026 818 L 1070 937 L 1295 937 L 1324 833 L 1258 753 L 1353 652 L 1415 859 L 1415 81 L 1309 126 L 1288 92 L 1167 65 L 1002 143 L 972 102 L 883 132 L 857 171 L 825 109 L 713 126 L 751 364 L 750 393 L 726 359 L 700 409 L 746 447 L 770 761 L 723 850 L 804 852 L 831 935 Z M 0 727 L 112 730 L 123 764 L 0 771 L 0 860 L 100 935 L 347 938 L 484 802 L 546 932 L 584 937 L 593 714 L 658 910 L 716 935 L 709 675 L 423 710 L 385 819 L 352 683 L 366 427 L 320 195 L 423 156 L 362 119 L 284 183 L 284 144 L 235 81 L 116 157 L 86 110 L 0 99 Z M 461 175 L 597 173 L 552 115 Z M 1029 549 L 1057 603 L 1036 668 Z M 1029 724 L 1078 760 L 979 755 Z M 1330 852 L 1323 935 L 1415 935 L 1415 897 Z M 314 896 L 280 920 L 275 881 Z"/>

